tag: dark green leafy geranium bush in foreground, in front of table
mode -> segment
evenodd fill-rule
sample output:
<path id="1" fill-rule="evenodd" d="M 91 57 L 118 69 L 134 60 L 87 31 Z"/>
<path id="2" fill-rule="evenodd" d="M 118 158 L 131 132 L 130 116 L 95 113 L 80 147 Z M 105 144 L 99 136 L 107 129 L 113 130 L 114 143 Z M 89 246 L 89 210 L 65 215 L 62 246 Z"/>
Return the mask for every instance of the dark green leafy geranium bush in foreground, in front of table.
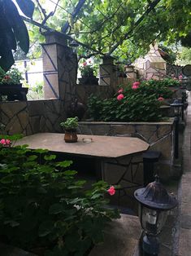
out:
<path id="1" fill-rule="evenodd" d="M 47 150 L 1 148 L 0 236 L 11 245 L 46 255 L 85 255 L 102 241 L 118 212 L 104 208 L 107 184 L 75 179 L 72 161 L 54 161 Z"/>

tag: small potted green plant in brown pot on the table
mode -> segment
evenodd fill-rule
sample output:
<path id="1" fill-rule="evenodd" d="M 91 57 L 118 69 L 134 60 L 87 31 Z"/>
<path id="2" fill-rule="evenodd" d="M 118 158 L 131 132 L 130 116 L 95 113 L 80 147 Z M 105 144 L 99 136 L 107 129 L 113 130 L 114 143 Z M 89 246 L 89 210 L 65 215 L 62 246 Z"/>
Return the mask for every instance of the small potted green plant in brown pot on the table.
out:
<path id="1" fill-rule="evenodd" d="M 68 117 L 66 121 L 60 123 L 65 130 L 64 140 L 66 143 L 77 142 L 78 117 Z"/>

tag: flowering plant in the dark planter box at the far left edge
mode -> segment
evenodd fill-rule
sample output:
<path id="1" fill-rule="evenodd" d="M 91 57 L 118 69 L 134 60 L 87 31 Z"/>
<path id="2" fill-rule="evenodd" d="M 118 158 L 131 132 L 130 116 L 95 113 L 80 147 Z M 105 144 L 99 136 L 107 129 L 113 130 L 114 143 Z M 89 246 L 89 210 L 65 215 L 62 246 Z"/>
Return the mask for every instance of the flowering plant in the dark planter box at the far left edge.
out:
<path id="1" fill-rule="evenodd" d="M 11 68 L 7 73 L 0 67 L 0 84 L 18 85 L 24 80 L 18 68 Z"/>

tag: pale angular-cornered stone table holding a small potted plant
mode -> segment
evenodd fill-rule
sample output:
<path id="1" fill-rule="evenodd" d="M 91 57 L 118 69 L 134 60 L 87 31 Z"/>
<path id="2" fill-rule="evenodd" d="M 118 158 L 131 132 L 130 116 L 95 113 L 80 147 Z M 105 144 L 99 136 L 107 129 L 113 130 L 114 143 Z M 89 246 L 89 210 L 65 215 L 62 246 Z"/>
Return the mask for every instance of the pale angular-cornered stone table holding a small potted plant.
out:
<path id="1" fill-rule="evenodd" d="M 76 143 L 65 143 L 63 134 L 39 133 L 26 136 L 15 143 L 16 145 L 28 144 L 28 148 L 45 148 L 51 152 L 61 152 L 75 157 L 92 157 L 97 160 L 97 178 L 105 179 L 105 161 L 121 159 L 137 153 L 145 152 L 149 143 L 132 137 L 78 135 Z M 85 143 L 85 139 L 92 142 Z"/>

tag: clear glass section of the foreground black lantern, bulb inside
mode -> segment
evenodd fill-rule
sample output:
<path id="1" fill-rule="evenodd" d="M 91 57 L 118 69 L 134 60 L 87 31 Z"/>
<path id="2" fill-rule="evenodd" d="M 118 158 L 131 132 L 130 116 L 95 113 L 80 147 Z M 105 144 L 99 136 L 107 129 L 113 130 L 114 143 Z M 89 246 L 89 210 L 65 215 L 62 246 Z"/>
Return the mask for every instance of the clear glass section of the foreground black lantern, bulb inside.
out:
<path id="1" fill-rule="evenodd" d="M 153 210 L 141 205 L 141 226 L 145 233 L 157 235 L 167 219 L 167 211 Z"/>

